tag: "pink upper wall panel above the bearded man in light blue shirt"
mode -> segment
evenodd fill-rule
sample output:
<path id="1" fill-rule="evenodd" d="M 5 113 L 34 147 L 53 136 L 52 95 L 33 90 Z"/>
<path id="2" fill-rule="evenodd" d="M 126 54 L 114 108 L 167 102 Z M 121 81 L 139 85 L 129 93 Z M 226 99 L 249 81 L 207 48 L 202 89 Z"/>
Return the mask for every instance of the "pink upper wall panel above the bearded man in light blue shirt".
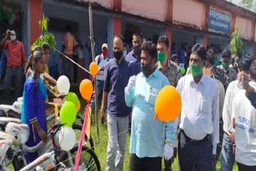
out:
<path id="1" fill-rule="evenodd" d="M 122 0 L 123 12 L 160 21 L 166 19 L 166 6 L 167 0 Z"/>

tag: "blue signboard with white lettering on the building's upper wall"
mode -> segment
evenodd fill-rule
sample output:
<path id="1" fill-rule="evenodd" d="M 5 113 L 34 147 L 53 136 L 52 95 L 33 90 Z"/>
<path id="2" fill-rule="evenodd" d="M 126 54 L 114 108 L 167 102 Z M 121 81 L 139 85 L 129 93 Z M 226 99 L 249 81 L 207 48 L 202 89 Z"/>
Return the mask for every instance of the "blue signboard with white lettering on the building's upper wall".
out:
<path id="1" fill-rule="evenodd" d="M 230 34 L 230 14 L 222 11 L 210 9 L 208 29 L 214 32 Z"/>

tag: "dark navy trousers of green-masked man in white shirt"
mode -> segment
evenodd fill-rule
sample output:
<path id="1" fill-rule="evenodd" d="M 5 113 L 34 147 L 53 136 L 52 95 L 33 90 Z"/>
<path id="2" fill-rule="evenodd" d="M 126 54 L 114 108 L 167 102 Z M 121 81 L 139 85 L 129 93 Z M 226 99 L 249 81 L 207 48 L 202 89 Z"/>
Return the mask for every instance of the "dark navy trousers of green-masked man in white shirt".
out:
<path id="1" fill-rule="evenodd" d="M 178 134 L 178 161 L 181 171 L 210 171 L 213 169 L 213 145 L 210 135 L 201 141 L 191 141 L 184 131 Z"/>

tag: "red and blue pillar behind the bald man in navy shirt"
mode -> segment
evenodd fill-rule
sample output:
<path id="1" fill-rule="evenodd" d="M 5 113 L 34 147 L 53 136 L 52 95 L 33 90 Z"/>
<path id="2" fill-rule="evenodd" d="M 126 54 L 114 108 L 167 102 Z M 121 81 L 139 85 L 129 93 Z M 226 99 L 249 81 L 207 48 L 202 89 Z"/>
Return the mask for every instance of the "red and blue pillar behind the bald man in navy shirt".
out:
<path id="1" fill-rule="evenodd" d="M 107 22 L 107 44 L 109 46 L 108 58 L 113 58 L 113 38 L 114 35 L 122 33 L 122 18 L 114 16 Z"/>

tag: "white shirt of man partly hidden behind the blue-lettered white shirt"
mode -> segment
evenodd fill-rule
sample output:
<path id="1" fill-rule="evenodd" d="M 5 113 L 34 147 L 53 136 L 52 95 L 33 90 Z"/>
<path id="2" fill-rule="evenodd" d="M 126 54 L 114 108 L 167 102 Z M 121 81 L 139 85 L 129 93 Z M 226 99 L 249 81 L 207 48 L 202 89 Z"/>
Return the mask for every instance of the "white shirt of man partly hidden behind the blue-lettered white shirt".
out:
<path id="1" fill-rule="evenodd" d="M 238 80 L 230 82 L 226 89 L 226 97 L 223 105 L 222 119 L 223 119 L 223 130 L 230 135 L 230 131 L 233 130 L 233 125 L 231 121 L 232 117 L 232 105 L 235 94 L 237 94 L 241 89 L 238 87 Z"/>

